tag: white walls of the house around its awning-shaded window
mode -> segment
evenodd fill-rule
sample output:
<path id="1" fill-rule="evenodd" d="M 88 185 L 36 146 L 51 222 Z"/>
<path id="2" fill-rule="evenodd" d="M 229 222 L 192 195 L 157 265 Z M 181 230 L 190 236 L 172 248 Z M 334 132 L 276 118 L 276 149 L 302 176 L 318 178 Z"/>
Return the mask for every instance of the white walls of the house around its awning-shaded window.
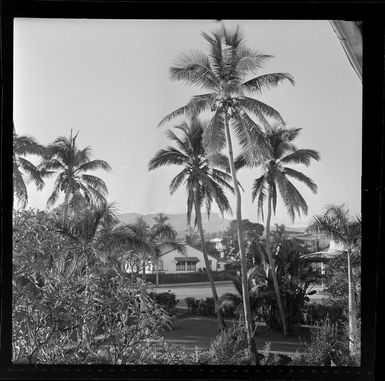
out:
<path id="1" fill-rule="evenodd" d="M 185 252 L 184 254 L 179 253 L 177 250 L 170 251 L 167 254 L 164 254 L 161 256 L 161 259 L 163 261 L 163 272 L 167 274 L 179 274 L 179 273 L 189 273 L 194 272 L 194 270 L 184 270 L 184 271 L 177 271 L 176 270 L 176 260 L 175 257 L 196 257 L 199 259 L 199 262 L 196 263 L 196 271 L 199 271 L 199 269 L 202 269 L 206 267 L 205 260 L 203 258 L 203 253 L 197 249 L 194 249 L 193 247 L 186 245 L 185 246 Z M 187 259 L 186 258 L 186 259 Z M 213 271 L 217 270 L 224 270 L 224 263 L 220 263 L 220 269 L 217 269 L 217 260 L 214 257 L 209 256 L 209 260 L 211 261 L 211 269 Z"/>

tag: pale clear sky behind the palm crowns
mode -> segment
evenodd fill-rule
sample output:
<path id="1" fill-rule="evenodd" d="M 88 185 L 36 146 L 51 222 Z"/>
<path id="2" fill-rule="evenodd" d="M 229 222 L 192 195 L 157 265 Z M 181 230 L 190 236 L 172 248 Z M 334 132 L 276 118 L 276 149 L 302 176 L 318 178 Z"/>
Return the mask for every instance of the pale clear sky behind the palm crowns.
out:
<path id="1" fill-rule="evenodd" d="M 287 72 L 295 78 L 295 87 L 283 84 L 259 97 L 289 127 L 303 129 L 298 148 L 321 154 L 321 161 L 308 168 L 293 166 L 318 185 L 317 195 L 298 185 L 309 214 L 294 224 L 306 225 L 330 203 L 344 203 L 360 213 L 362 85 L 329 22 L 224 24 L 239 24 L 250 48 L 274 56 L 259 74 Z M 164 132 L 173 127 L 157 128 L 159 121 L 202 93 L 171 81 L 169 67 L 180 53 L 207 52 L 200 33 L 219 26 L 209 20 L 16 19 L 16 132 L 48 144 L 68 136 L 71 128 L 80 131 L 79 147 L 91 146 L 92 158 L 111 165 L 112 172 L 96 174 L 106 181 L 108 200 L 116 201 L 121 212 L 184 213 L 186 192 L 181 189 L 171 197 L 168 191 L 178 168 L 148 172 L 147 165 L 168 145 Z M 239 172 L 245 189 L 243 218 L 253 221 L 251 186 L 257 176 L 255 169 Z M 30 206 L 44 209 L 52 188 L 52 181 L 41 192 L 29 186 Z M 235 199 L 229 197 L 235 211 Z M 280 199 L 274 222 L 293 225 Z"/>

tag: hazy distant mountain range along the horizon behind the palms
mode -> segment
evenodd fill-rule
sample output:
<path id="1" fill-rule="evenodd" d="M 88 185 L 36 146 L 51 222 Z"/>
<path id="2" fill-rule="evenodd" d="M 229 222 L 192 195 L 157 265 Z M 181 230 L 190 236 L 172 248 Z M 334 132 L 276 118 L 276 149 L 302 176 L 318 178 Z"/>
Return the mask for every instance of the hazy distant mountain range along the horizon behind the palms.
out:
<path id="1" fill-rule="evenodd" d="M 121 222 L 132 224 L 135 222 L 135 220 L 142 216 L 144 220 L 150 225 L 155 224 L 154 217 L 157 216 L 159 213 L 152 213 L 152 214 L 145 214 L 142 215 L 140 213 L 122 213 L 118 215 L 118 218 Z M 186 234 L 188 234 L 188 228 L 187 228 L 187 218 L 186 214 L 180 213 L 180 214 L 165 214 L 169 219 L 168 223 L 171 224 L 174 229 L 178 232 L 179 237 L 184 237 Z M 192 222 L 194 221 L 194 216 L 192 217 Z M 206 213 L 202 213 L 202 220 L 203 220 L 203 229 L 207 233 L 218 233 L 221 231 L 225 231 L 228 226 L 230 225 L 231 220 L 222 218 L 218 213 L 211 213 L 210 219 L 207 218 Z M 274 229 L 274 226 L 272 227 Z M 303 232 L 305 230 L 304 227 L 296 227 L 296 226 L 287 226 L 287 231 L 292 232 Z"/>

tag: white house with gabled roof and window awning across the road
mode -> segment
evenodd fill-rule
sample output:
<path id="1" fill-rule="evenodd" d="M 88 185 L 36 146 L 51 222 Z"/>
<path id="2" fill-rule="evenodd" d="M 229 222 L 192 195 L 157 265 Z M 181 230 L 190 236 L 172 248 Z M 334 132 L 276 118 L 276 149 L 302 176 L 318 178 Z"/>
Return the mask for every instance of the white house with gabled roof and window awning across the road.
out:
<path id="1" fill-rule="evenodd" d="M 190 245 L 183 245 L 184 252 L 176 249 L 164 251 L 158 260 L 159 272 L 166 274 L 179 274 L 203 271 L 206 268 L 203 253 Z M 222 271 L 225 269 L 225 262 L 221 259 L 208 254 L 211 269 Z M 147 273 L 156 272 L 156 265 L 150 264 L 146 268 Z"/>

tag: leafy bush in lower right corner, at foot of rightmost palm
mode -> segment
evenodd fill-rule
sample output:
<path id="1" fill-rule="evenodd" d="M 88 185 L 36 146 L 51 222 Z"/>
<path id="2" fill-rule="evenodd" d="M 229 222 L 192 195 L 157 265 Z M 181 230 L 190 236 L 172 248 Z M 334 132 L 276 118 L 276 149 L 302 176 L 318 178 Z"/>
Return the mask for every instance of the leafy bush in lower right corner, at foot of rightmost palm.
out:
<path id="1" fill-rule="evenodd" d="M 322 325 L 313 328 L 311 343 L 303 353 L 297 353 L 290 365 L 311 366 L 355 366 L 357 359 L 349 354 L 349 339 L 346 323 L 331 323 L 326 319 Z"/>

